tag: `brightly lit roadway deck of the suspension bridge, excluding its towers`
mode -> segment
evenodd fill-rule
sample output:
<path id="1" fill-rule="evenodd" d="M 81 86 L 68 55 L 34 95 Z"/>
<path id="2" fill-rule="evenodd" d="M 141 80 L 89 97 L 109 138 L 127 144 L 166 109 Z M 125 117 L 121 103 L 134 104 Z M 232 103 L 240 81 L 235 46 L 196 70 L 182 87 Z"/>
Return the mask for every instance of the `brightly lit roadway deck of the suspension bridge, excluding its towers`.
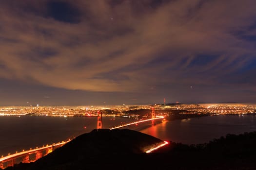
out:
<path id="1" fill-rule="evenodd" d="M 112 128 L 110 128 L 110 130 L 122 128 L 122 127 L 125 127 L 125 126 L 130 126 L 130 125 L 133 125 L 133 124 L 142 123 L 142 122 L 146 122 L 146 121 L 154 121 L 154 120 L 157 120 L 157 119 L 164 119 L 164 117 L 163 116 L 157 116 L 156 118 L 152 118 L 152 119 L 139 120 L 139 121 L 136 121 L 136 122 L 127 123 L 127 124 L 123 124 L 123 125 L 120 125 L 120 126 L 112 127 Z M 61 143 L 52 144 L 52 145 L 46 145 L 44 147 L 40 147 L 40 148 L 28 150 L 28 151 L 22 151 L 20 153 L 9 154 L 9 155 L 4 156 L 4 157 L 2 156 L 2 157 L 0 157 L 0 168 L 2 168 L 1 164 L 4 163 L 4 162 L 9 162 L 9 161 L 12 161 L 12 160 L 14 160 L 16 158 L 19 158 L 19 157 L 22 157 L 22 156 L 25 156 L 25 155 L 28 155 L 28 154 L 33 154 L 33 153 L 41 152 L 41 151 L 44 151 L 44 150 L 47 150 L 47 149 L 51 149 L 51 148 L 56 147 L 56 146 L 60 147 L 60 146 L 66 144 L 66 143 L 68 143 L 70 141 L 71 140 L 62 141 Z M 166 145 L 166 144 L 167 143 L 164 143 L 163 145 Z"/>

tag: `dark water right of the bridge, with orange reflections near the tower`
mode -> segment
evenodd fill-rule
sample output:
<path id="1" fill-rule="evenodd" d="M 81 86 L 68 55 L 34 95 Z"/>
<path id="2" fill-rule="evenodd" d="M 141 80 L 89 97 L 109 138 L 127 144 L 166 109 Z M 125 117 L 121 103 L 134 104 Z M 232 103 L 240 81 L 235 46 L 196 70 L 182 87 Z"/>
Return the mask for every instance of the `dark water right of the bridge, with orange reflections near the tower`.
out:
<path id="1" fill-rule="evenodd" d="M 256 131 L 256 116 L 214 116 L 166 121 L 140 132 L 184 144 L 209 142 L 227 134 Z"/>

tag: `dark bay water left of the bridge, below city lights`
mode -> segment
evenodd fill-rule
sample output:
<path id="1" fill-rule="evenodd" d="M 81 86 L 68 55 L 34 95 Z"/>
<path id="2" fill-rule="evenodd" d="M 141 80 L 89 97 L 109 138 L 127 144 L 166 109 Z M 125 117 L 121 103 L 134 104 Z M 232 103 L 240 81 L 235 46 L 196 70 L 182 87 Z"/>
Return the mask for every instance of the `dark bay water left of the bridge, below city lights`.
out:
<path id="1" fill-rule="evenodd" d="M 130 122 L 133 119 L 103 118 L 103 128 Z M 0 156 L 58 143 L 96 129 L 96 117 L 1 116 Z"/>

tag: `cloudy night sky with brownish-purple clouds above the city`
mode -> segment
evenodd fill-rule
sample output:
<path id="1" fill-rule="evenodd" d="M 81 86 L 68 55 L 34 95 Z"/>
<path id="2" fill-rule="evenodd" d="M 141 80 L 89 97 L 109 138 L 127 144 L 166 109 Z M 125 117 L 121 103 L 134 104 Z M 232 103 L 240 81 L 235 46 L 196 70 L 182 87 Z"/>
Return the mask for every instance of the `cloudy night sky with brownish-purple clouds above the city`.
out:
<path id="1" fill-rule="evenodd" d="M 0 105 L 256 102 L 256 0 L 0 0 Z"/>

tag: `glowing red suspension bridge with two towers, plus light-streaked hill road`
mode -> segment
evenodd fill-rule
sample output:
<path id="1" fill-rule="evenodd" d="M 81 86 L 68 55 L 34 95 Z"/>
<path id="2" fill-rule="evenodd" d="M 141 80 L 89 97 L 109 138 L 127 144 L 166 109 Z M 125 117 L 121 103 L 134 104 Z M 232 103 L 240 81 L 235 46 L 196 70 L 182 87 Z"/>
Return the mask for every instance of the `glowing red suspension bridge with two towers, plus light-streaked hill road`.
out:
<path id="1" fill-rule="evenodd" d="M 159 120 L 159 119 L 164 119 L 164 117 L 156 116 L 155 108 L 152 107 L 152 118 L 151 119 L 138 120 L 135 122 L 118 125 L 118 126 L 115 126 L 115 127 L 109 128 L 109 129 L 110 130 L 119 129 L 122 127 L 134 125 L 134 124 L 137 125 L 138 123 L 147 122 L 147 121 L 152 121 L 152 124 L 154 125 L 155 120 Z M 97 129 L 102 129 L 102 114 L 100 112 L 98 112 Z M 48 153 L 53 152 L 55 149 L 65 145 L 66 143 L 68 143 L 70 141 L 71 141 L 71 139 L 68 139 L 66 141 L 62 141 L 59 143 L 53 143 L 51 145 L 37 147 L 35 149 L 31 148 L 30 150 L 27 150 L 27 151 L 23 150 L 21 152 L 16 152 L 14 154 L 8 154 L 7 156 L 1 156 L 0 157 L 0 168 L 4 169 L 6 167 L 13 167 L 16 164 L 16 162 L 19 162 L 19 160 L 22 163 L 35 162 L 39 158 L 47 155 Z M 162 146 L 165 146 L 167 144 L 168 144 L 168 142 L 164 141 L 162 144 L 158 145 L 156 148 L 151 148 L 149 151 L 146 151 L 146 153 L 150 153 L 150 152 L 152 152 Z"/>

